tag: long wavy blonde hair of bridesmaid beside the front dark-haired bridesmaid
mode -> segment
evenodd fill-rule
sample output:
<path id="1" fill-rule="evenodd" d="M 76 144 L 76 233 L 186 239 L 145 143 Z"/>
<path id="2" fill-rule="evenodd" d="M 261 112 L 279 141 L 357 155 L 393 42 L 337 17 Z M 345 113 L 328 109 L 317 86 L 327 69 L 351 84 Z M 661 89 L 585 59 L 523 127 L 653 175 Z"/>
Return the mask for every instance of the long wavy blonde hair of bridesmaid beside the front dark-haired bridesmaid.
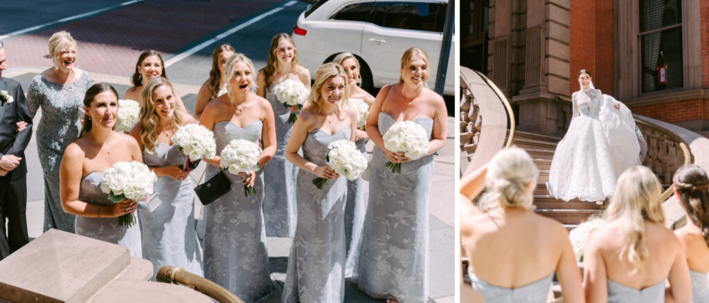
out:
<path id="1" fill-rule="evenodd" d="M 172 118 L 170 118 L 170 125 L 177 130 L 180 125 L 182 125 L 182 114 L 179 111 L 179 103 L 177 102 L 177 93 L 175 93 L 174 88 L 170 81 L 163 77 L 157 77 L 150 79 L 145 84 L 143 88 L 143 103 L 140 103 L 140 141 L 143 142 L 145 150 L 152 152 L 152 148 L 155 147 L 157 142 L 157 124 L 160 122 L 160 116 L 155 113 L 155 100 L 152 99 L 152 93 L 156 88 L 166 85 L 172 91 L 173 98 L 175 98 L 174 110 L 172 110 Z"/>

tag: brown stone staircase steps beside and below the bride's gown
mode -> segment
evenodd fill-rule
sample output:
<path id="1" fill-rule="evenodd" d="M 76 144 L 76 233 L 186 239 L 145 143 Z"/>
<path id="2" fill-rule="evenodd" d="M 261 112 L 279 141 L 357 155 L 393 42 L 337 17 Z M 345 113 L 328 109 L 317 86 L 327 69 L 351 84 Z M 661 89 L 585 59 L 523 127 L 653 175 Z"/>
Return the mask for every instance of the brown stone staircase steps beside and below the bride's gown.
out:
<path id="1" fill-rule="evenodd" d="M 565 202 L 549 195 L 545 183 L 549 181 L 549 168 L 559 140 L 561 140 L 559 137 L 515 131 L 513 144 L 525 149 L 539 168 L 539 179 L 534 190 L 534 204 L 537 206 L 535 212 L 556 219 L 564 224 L 566 229 L 571 230 L 591 215 L 600 216 L 605 210 L 605 205 L 581 200 Z"/>

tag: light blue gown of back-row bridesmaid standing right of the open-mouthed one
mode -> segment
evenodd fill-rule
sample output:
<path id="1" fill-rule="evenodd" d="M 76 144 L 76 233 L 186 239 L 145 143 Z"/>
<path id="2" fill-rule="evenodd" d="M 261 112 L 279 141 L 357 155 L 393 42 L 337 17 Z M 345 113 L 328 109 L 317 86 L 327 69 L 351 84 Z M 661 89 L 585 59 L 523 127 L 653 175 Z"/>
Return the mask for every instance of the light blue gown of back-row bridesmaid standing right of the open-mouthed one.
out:
<path id="1" fill-rule="evenodd" d="M 269 88 L 273 88 L 273 85 Z M 291 137 L 288 122 L 291 111 L 276 95 L 267 89 L 266 98 L 271 103 L 276 118 L 276 154 L 264 166 L 264 219 L 268 236 L 292 237 L 296 232 L 296 174 L 298 166 L 286 160 L 286 145 Z"/>

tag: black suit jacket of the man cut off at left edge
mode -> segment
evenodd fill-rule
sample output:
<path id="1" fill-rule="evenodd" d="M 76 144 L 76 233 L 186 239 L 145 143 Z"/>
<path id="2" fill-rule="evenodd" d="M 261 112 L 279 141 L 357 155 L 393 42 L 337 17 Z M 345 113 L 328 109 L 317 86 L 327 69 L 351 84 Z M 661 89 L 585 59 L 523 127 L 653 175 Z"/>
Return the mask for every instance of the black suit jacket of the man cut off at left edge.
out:
<path id="1" fill-rule="evenodd" d="M 7 91 L 15 99 L 13 103 L 0 104 L 0 157 L 11 154 L 22 158 L 20 165 L 0 177 L 0 183 L 5 183 L 27 174 L 25 148 L 32 137 L 32 116 L 22 86 L 17 81 L 0 78 L 0 91 Z M 19 121 L 27 122 L 27 128 L 22 132 L 17 132 Z"/>

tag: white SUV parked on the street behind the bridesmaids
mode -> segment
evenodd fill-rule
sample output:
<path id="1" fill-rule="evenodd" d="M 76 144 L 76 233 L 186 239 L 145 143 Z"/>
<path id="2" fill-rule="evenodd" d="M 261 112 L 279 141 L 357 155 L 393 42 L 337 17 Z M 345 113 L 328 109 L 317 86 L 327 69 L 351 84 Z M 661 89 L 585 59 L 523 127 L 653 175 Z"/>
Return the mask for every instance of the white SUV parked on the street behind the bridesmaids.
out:
<path id="1" fill-rule="evenodd" d="M 428 85 L 435 86 L 447 0 L 320 0 L 298 17 L 293 39 L 298 62 L 315 72 L 341 52 L 352 52 L 361 66 L 362 88 L 398 81 L 401 55 L 409 47 L 428 53 Z M 451 45 L 445 95 L 453 96 Z"/>

